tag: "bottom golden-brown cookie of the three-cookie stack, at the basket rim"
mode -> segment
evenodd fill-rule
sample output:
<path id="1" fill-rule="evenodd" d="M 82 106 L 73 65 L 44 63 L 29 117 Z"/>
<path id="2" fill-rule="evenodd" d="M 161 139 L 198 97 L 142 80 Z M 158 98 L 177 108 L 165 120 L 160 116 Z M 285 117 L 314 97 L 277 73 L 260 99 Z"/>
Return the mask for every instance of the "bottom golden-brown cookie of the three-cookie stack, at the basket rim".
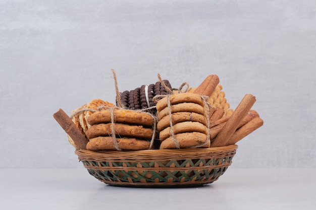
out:
<path id="1" fill-rule="evenodd" d="M 150 142 L 136 138 L 116 138 L 121 150 L 147 150 Z M 87 144 L 87 150 L 116 150 L 112 136 L 99 136 L 91 138 Z"/>

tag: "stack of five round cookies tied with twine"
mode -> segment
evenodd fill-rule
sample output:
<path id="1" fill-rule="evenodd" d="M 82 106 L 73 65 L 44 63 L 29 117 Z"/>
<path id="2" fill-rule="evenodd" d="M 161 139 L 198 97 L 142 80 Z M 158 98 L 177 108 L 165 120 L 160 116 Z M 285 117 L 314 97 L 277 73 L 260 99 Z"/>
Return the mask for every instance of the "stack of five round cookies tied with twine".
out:
<path id="1" fill-rule="evenodd" d="M 199 94 L 176 93 L 159 100 L 160 149 L 209 147 L 207 108 Z"/>

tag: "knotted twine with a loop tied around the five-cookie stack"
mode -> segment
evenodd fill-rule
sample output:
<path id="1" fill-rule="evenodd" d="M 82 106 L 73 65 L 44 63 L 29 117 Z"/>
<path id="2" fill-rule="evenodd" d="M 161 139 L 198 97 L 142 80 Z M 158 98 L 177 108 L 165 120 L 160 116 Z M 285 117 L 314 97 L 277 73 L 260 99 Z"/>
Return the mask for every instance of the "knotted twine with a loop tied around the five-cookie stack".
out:
<path id="1" fill-rule="evenodd" d="M 174 90 L 177 90 L 179 93 L 186 93 L 190 90 L 189 84 L 184 82 L 181 84 L 181 86 L 179 87 L 179 89 L 170 89 L 169 87 L 166 86 L 166 84 L 163 82 L 161 76 L 158 74 L 158 80 L 162 83 L 162 85 L 166 88 L 166 90 L 169 92 L 169 94 L 167 95 L 156 95 L 153 97 L 153 101 L 156 104 L 160 99 L 167 97 L 167 107 L 168 107 L 168 114 L 169 114 L 169 124 L 170 124 L 170 135 L 172 136 L 173 142 L 176 146 L 177 149 L 180 149 L 180 145 L 179 145 L 179 141 L 177 140 L 174 131 L 173 131 L 173 122 L 172 122 L 172 113 L 171 113 L 171 102 L 170 102 L 170 96 L 174 94 Z M 186 86 L 186 89 L 183 91 L 182 89 Z M 209 107 L 210 104 L 207 102 L 208 97 L 207 96 L 200 96 L 203 103 L 204 103 L 204 107 L 205 107 L 205 118 L 206 118 L 206 122 L 207 122 L 207 138 L 206 141 L 204 143 L 201 143 L 199 145 L 194 145 L 188 148 L 199 148 L 199 147 L 203 147 L 205 145 L 208 144 L 208 142 L 210 142 L 210 126 L 209 126 L 209 118 L 208 118 L 208 111 L 209 111 Z"/>

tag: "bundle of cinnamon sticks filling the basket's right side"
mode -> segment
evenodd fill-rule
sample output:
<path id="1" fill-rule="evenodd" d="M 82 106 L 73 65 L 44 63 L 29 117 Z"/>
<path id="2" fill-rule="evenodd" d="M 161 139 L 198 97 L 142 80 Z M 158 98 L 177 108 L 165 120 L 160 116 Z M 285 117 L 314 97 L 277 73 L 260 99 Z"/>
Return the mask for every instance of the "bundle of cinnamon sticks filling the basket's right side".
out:
<path id="1" fill-rule="evenodd" d="M 210 97 L 219 85 L 217 75 L 209 75 L 194 93 Z M 209 109 L 210 147 L 233 145 L 264 124 L 259 114 L 251 107 L 256 99 L 246 94 L 235 110 L 224 116 L 225 110 L 219 107 Z"/>

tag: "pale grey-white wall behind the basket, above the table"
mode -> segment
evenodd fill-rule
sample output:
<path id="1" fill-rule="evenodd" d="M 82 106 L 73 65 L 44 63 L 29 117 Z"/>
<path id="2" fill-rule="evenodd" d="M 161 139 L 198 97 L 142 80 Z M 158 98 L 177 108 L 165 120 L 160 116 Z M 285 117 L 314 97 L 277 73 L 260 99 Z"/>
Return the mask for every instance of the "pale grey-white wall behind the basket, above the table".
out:
<path id="1" fill-rule="evenodd" d="M 52 117 L 157 81 L 217 74 L 260 127 L 234 168 L 316 167 L 315 1 L 0 1 L 0 168 L 82 168 Z"/>

